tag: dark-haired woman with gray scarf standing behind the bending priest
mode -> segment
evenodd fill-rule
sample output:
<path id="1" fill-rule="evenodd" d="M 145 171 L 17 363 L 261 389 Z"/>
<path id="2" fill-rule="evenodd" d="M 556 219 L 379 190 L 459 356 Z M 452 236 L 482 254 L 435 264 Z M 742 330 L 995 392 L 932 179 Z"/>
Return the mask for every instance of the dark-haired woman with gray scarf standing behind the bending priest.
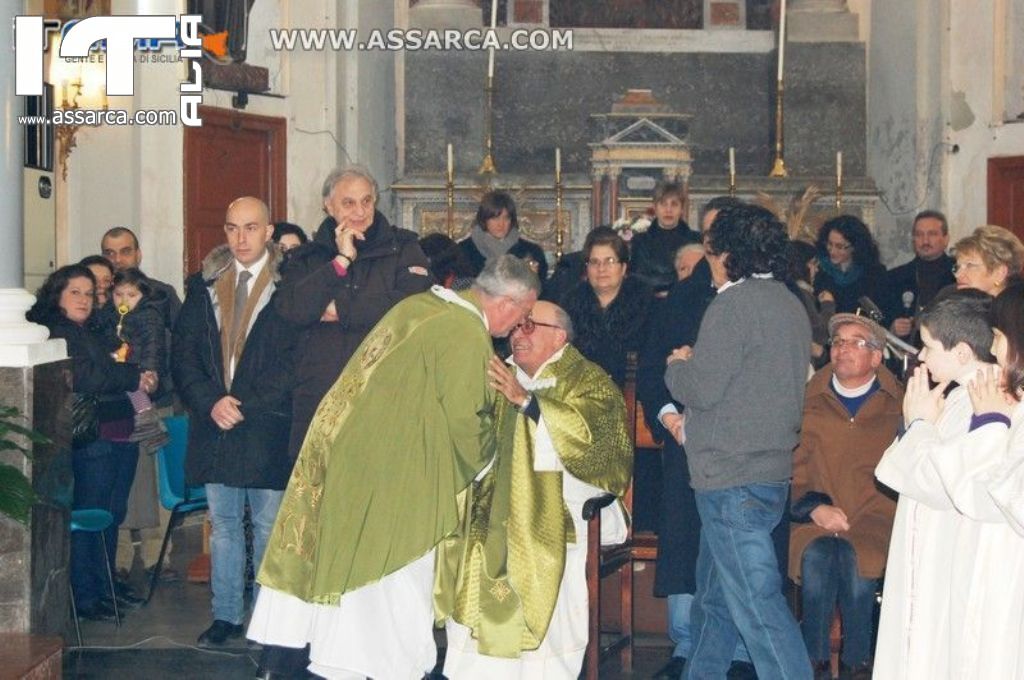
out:
<path id="1" fill-rule="evenodd" d="M 488 192 L 483 196 L 469 238 L 460 241 L 459 247 L 469 260 L 474 277 L 480 273 L 484 263 L 508 253 L 525 260 L 542 285 L 548 278 L 544 249 L 519 237 L 515 202 L 505 192 Z"/>

